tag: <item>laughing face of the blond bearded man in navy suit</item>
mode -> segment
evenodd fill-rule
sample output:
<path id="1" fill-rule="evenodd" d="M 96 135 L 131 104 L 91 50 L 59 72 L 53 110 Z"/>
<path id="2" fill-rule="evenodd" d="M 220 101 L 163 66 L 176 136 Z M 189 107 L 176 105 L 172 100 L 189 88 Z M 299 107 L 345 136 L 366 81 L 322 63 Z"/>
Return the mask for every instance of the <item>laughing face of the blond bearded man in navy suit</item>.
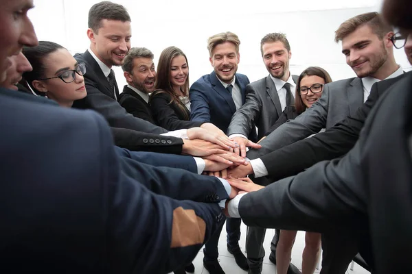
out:
<path id="1" fill-rule="evenodd" d="M 216 76 L 222 82 L 230 84 L 238 71 L 240 55 L 236 52 L 236 47 L 232 42 L 224 42 L 213 49 L 209 61 Z"/>

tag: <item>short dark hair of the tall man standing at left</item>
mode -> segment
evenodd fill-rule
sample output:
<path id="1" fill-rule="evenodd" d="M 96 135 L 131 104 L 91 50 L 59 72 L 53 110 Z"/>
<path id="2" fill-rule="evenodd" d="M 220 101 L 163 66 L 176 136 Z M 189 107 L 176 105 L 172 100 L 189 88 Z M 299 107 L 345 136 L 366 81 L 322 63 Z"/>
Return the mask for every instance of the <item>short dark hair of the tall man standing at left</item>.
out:
<path id="1" fill-rule="evenodd" d="M 97 34 L 100 27 L 102 27 L 103 19 L 131 22 L 126 8 L 111 1 L 102 1 L 91 6 L 89 10 L 89 28 Z"/>

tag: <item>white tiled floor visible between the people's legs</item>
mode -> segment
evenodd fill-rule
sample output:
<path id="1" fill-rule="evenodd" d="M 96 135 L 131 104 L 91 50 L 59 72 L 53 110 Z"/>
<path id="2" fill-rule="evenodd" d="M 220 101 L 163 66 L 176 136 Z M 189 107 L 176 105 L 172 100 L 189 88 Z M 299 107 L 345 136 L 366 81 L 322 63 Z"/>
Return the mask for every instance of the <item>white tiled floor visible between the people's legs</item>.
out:
<path id="1" fill-rule="evenodd" d="M 240 241 L 239 245 L 242 251 L 244 251 L 244 242 L 246 240 L 246 225 L 242 223 L 242 226 L 240 227 L 240 231 L 242 232 L 240 236 Z M 264 239 L 264 249 L 266 252 L 266 256 L 263 260 L 263 271 L 262 274 L 275 274 L 276 273 L 276 267 L 274 264 L 269 261 L 268 256 L 271 253 L 271 240 L 273 238 L 273 235 L 275 233 L 274 229 L 267 229 L 266 231 L 266 237 Z M 299 269 L 301 269 L 301 262 L 302 262 L 302 251 L 304 250 L 305 246 L 305 233 L 304 232 L 298 232 L 296 236 L 296 241 L 295 245 L 293 246 L 292 250 L 292 262 L 297 266 Z M 222 269 L 225 271 L 226 274 L 244 274 L 247 273 L 247 271 L 243 271 L 240 269 L 240 267 L 236 264 L 235 259 L 233 258 L 233 255 L 227 251 L 226 247 L 226 229 L 223 227 L 222 229 L 222 234 L 220 234 L 220 239 L 219 239 L 219 260 L 220 260 L 220 266 L 222 266 Z M 209 271 L 207 271 L 203 267 L 203 249 L 198 253 L 196 258 L 193 261 L 194 267 L 195 267 L 195 272 L 196 274 L 209 274 Z M 319 262 L 319 265 L 321 265 L 321 262 Z M 320 270 L 320 269 L 319 269 Z M 319 273 L 319 270 L 315 271 L 315 273 Z M 355 264 L 354 270 L 351 271 L 350 269 L 347 269 L 347 274 L 367 274 L 369 273 L 368 271 L 365 271 L 361 266 L 358 266 L 358 264 Z"/>

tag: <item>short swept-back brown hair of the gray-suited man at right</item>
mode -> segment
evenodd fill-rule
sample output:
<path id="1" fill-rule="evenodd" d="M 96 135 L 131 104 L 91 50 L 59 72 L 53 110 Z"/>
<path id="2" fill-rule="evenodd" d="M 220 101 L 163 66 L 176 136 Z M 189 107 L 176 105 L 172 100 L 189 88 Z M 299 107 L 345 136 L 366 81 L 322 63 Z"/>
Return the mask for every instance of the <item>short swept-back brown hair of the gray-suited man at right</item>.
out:
<path id="1" fill-rule="evenodd" d="M 343 38 L 352 34 L 358 27 L 363 25 L 369 25 L 372 32 L 374 32 L 380 40 L 382 40 L 388 32 L 393 32 L 391 25 L 386 23 L 378 12 L 367 12 L 356 15 L 341 23 L 335 32 L 335 42 L 343 40 Z"/>

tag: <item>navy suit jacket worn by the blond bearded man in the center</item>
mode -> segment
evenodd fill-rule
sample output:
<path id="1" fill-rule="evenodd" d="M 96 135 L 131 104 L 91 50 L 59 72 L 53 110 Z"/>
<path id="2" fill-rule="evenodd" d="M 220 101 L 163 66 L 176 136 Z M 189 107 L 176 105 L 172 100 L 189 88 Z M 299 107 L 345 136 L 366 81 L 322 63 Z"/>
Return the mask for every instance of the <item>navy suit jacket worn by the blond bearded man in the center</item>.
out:
<path id="1" fill-rule="evenodd" d="M 244 104 L 244 88 L 249 84 L 246 75 L 236 73 L 236 85 L 242 93 L 242 104 Z M 229 91 L 220 83 L 215 72 L 203 75 L 190 87 L 190 120 L 209 122 L 227 133 L 231 117 L 236 112 L 236 105 L 233 102 Z M 253 136 L 253 134 L 251 134 Z M 249 137 L 251 138 L 251 137 Z M 256 139 L 254 134 L 253 139 Z"/>

